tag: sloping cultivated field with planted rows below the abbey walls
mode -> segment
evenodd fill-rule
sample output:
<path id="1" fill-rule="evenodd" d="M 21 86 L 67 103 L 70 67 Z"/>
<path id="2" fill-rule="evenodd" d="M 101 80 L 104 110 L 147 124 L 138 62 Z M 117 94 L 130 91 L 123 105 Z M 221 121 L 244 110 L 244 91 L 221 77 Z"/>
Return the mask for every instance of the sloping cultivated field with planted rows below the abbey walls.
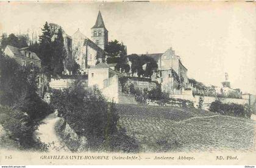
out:
<path id="1" fill-rule="evenodd" d="M 195 108 L 116 105 L 120 124 L 137 139 L 141 152 L 250 150 L 250 119 L 219 116 Z"/>

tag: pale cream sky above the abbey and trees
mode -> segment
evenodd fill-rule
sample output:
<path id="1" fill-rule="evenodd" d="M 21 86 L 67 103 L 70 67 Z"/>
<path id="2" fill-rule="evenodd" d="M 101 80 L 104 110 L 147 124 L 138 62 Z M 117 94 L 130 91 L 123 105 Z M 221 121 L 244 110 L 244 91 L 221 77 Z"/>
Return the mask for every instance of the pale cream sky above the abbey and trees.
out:
<path id="1" fill-rule="evenodd" d="M 0 33 L 40 31 L 45 21 L 91 37 L 99 9 L 108 39 L 128 54 L 175 50 L 188 77 L 256 94 L 255 2 L 0 2 Z"/>

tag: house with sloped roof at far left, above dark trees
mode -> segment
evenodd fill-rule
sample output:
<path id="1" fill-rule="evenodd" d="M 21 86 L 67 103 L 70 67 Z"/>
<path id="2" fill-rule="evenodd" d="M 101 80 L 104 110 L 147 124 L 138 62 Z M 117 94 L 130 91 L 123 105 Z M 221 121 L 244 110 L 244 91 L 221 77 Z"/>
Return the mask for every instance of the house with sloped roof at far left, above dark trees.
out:
<path id="1" fill-rule="evenodd" d="M 41 68 L 41 60 L 35 52 L 30 51 L 29 47 L 17 48 L 7 45 L 4 49 L 4 54 L 11 58 L 15 58 L 17 63 L 22 66 L 34 65 Z"/>

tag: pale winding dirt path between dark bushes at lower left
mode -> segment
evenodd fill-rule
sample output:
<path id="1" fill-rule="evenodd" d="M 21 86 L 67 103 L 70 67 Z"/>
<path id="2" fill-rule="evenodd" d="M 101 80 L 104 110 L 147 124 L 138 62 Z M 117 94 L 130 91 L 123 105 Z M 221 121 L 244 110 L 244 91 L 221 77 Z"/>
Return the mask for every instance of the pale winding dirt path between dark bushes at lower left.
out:
<path id="1" fill-rule="evenodd" d="M 68 150 L 60 143 L 60 139 L 55 132 L 55 124 L 59 119 L 59 117 L 54 116 L 54 113 L 49 114 L 49 116 L 43 119 L 38 130 L 34 133 L 35 138 L 39 138 L 41 142 L 48 144 L 49 151 Z"/>

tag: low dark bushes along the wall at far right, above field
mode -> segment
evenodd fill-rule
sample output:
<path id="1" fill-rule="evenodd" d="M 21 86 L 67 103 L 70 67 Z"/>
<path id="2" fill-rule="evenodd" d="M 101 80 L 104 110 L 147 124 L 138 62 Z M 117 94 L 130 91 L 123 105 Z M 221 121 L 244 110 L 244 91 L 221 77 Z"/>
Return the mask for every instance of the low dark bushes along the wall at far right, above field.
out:
<path id="1" fill-rule="evenodd" d="M 249 105 L 239 105 L 236 103 L 222 103 L 219 100 L 212 102 L 209 108 L 210 111 L 235 117 L 251 118 L 252 108 Z"/>

